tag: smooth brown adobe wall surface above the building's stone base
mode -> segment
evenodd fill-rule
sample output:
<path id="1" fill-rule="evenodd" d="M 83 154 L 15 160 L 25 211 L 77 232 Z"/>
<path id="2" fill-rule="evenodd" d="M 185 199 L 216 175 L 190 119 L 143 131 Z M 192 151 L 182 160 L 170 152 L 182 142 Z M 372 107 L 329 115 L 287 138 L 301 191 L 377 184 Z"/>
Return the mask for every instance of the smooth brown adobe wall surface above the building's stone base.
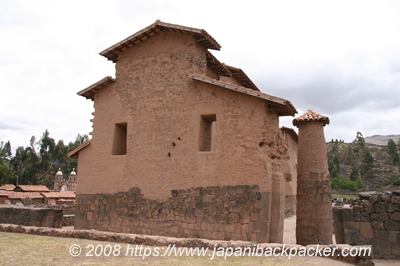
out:
<path id="1" fill-rule="evenodd" d="M 278 115 L 265 100 L 188 78 L 217 77 L 205 52 L 190 35 L 165 31 L 119 54 L 116 82 L 95 95 L 77 200 L 137 187 L 143 198 L 163 202 L 172 190 L 256 184 L 268 225 L 263 242 L 281 242 L 287 145 Z M 199 151 L 207 115 L 216 118 L 216 149 Z M 126 125 L 125 155 L 112 155 L 116 124 Z M 76 217 L 78 228 L 96 228 L 85 219 Z"/>

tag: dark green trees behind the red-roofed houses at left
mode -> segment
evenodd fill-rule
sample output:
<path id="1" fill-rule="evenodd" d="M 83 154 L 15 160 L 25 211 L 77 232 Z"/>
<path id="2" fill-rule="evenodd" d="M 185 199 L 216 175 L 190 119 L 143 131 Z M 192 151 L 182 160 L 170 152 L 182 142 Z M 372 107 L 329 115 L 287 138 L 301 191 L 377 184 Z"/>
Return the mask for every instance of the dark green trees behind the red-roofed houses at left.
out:
<path id="1" fill-rule="evenodd" d="M 0 143 L 0 185 L 45 185 L 53 188 L 54 176 L 60 168 L 65 177 L 77 169 L 77 160 L 67 157 L 67 153 L 89 139 L 88 135 L 78 134 L 74 142 L 65 144 L 55 141 L 49 131 L 39 140 L 35 136 L 27 147 L 19 146 L 12 154 L 10 141 Z"/>

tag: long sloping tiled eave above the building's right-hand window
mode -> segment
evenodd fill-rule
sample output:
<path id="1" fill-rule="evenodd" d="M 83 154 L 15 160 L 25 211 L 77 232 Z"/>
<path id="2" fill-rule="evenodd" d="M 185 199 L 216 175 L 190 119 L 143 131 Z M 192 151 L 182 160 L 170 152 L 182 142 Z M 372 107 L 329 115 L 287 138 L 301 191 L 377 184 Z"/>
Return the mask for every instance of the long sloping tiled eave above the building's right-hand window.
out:
<path id="1" fill-rule="evenodd" d="M 282 99 L 282 98 L 278 98 L 278 97 L 275 97 L 275 96 L 272 96 L 272 95 L 269 95 L 266 93 L 255 91 L 254 89 L 245 88 L 245 87 L 242 87 L 242 86 L 239 86 L 236 84 L 223 82 L 223 81 L 212 79 L 209 77 L 189 75 L 189 78 L 191 78 L 193 80 L 205 82 L 208 84 L 212 84 L 215 86 L 219 86 L 222 88 L 226 88 L 229 90 L 237 91 L 237 92 L 240 92 L 243 94 L 247 94 L 249 96 L 267 100 L 270 103 L 268 105 L 268 108 L 270 108 L 271 111 L 277 112 L 278 115 L 280 115 L 280 116 L 285 116 L 285 115 L 294 116 L 294 114 L 297 113 L 297 111 L 294 108 L 294 106 L 292 105 L 292 103 L 290 101 Z"/>

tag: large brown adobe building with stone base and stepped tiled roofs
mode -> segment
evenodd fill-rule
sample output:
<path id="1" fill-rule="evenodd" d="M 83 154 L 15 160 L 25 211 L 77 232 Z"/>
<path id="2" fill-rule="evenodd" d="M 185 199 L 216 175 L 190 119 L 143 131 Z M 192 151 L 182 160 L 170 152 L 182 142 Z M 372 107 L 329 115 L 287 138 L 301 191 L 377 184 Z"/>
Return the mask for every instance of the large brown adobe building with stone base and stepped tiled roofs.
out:
<path id="1" fill-rule="evenodd" d="M 282 243 L 290 101 L 209 50 L 205 30 L 156 21 L 104 50 L 115 63 L 78 158 L 75 229 Z M 294 145 L 294 144 L 293 144 Z"/>

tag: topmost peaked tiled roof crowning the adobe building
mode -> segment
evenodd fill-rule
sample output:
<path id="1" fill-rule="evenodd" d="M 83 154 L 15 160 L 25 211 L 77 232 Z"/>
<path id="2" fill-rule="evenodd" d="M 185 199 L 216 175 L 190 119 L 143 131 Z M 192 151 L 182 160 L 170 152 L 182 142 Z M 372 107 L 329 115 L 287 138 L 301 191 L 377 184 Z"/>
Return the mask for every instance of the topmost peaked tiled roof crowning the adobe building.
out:
<path id="1" fill-rule="evenodd" d="M 211 35 L 209 35 L 205 30 L 165 23 L 160 20 L 157 20 L 150 26 L 142 29 L 141 31 L 136 32 L 135 34 L 129 36 L 128 38 L 102 51 L 100 55 L 116 63 L 118 61 L 119 53 L 137 44 L 142 43 L 143 41 L 151 38 L 155 34 L 158 34 L 159 32 L 164 30 L 191 34 L 193 35 L 193 38 L 205 49 L 214 49 L 214 50 L 221 49 L 221 46 L 217 43 L 217 41 L 213 37 L 211 37 Z"/>

